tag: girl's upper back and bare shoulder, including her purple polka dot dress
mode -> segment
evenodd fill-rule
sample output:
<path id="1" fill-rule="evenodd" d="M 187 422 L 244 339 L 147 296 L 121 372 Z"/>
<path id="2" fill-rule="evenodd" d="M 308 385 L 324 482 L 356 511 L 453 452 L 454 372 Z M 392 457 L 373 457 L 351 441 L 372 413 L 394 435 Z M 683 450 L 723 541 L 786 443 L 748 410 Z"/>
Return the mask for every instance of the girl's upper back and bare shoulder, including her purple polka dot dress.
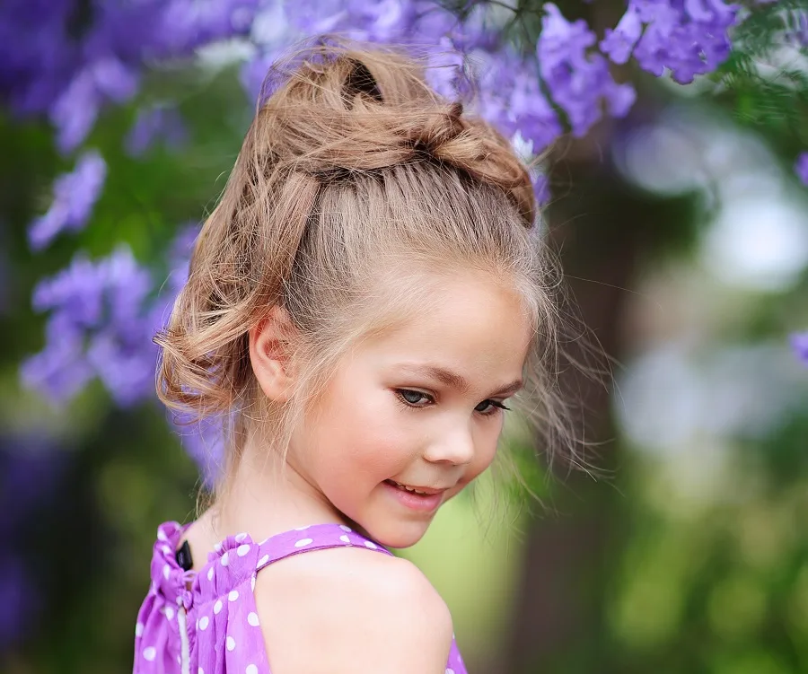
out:
<path id="1" fill-rule="evenodd" d="M 302 527 L 258 544 L 237 534 L 198 571 L 176 558 L 188 529 L 166 522 L 157 532 L 152 585 L 137 616 L 136 674 L 268 674 L 270 659 L 274 671 L 299 674 L 341 671 L 339 662 L 353 663 L 345 671 L 392 671 L 391 660 L 421 671 L 435 654 L 412 647 L 441 641 L 451 641 L 447 674 L 466 671 L 451 617 L 423 575 L 346 525 Z M 391 630 L 396 640 L 377 638 Z M 435 640 L 441 630 L 444 640 Z"/>

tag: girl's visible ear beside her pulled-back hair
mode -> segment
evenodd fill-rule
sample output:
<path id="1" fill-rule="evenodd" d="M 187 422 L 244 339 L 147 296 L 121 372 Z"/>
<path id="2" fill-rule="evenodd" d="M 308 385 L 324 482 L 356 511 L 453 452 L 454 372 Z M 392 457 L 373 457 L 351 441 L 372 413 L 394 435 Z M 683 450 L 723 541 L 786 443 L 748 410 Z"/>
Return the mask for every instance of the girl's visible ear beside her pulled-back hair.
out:
<path id="1" fill-rule="evenodd" d="M 283 307 L 278 306 L 250 329 L 252 372 L 267 398 L 275 402 L 285 402 L 292 390 L 291 355 L 295 336 L 292 319 Z"/>

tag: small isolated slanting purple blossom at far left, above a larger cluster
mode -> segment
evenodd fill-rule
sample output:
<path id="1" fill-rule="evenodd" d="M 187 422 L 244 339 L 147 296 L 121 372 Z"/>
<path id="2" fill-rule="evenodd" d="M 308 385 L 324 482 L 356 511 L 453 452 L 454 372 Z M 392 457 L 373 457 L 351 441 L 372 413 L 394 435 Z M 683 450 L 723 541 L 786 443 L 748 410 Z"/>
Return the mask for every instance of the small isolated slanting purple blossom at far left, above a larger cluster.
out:
<path id="1" fill-rule="evenodd" d="M 54 199 L 48 212 L 31 223 L 31 248 L 45 248 L 63 230 L 80 230 L 89 220 L 106 178 L 107 164 L 101 154 L 95 150 L 83 153 L 74 170 L 54 182 Z"/>

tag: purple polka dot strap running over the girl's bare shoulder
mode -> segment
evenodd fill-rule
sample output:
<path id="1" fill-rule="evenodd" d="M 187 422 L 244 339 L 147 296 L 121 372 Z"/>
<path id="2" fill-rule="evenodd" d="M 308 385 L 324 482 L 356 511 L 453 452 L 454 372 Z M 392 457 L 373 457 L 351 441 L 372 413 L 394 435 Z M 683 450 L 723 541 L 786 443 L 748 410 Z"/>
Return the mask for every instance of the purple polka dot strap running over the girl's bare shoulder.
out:
<path id="1" fill-rule="evenodd" d="M 329 547 L 364 547 L 368 550 L 392 555 L 386 547 L 352 530 L 345 524 L 312 524 L 284 531 L 259 543 L 256 571 L 285 557 Z"/>

